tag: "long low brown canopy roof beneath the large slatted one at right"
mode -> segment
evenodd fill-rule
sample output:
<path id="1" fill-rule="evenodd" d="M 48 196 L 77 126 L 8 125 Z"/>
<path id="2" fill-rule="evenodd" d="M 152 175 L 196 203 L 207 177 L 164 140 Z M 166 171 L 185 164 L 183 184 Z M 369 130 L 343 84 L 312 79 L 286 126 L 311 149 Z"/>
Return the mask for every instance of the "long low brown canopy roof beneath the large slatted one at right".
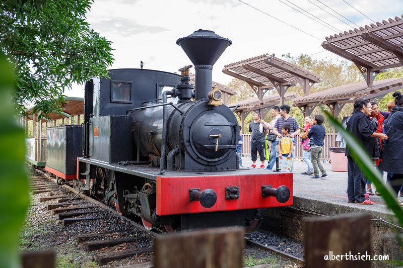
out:
<path id="1" fill-rule="evenodd" d="M 328 90 L 315 92 L 304 97 L 296 98 L 293 104 L 301 106 L 317 106 L 321 104 L 353 103 L 356 98 L 374 99 L 403 88 L 403 78 L 379 80 L 367 87 L 366 83 L 341 85 Z"/>

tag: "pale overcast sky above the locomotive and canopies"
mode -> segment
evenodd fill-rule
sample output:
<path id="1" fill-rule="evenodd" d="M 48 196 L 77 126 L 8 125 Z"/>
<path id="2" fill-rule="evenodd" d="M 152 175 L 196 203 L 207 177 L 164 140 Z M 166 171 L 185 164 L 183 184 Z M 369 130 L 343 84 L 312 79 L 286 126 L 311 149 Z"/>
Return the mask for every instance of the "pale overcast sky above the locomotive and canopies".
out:
<path id="1" fill-rule="evenodd" d="M 336 59 L 321 47 L 325 37 L 402 14 L 401 0 L 95 0 L 87 22 L 112 42 L 110 68 L 140 68 L 143 61 L 146 69 L 169 72 L 192 64 L 178 38 L 212 30 L 232 41 L 213 66 L 213 80 L 226 84 L 226 64 L 265 53 Z M 65 95 L 84 97 L 83 86 Z"/>

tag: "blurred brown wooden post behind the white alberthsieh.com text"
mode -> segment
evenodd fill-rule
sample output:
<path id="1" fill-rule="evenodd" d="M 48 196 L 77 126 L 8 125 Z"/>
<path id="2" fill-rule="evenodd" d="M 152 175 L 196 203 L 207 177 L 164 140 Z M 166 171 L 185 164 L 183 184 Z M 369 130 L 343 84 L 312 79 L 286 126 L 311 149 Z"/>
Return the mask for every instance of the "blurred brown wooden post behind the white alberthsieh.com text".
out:
<path id="1" fill-rule="evenodd" d="M 369 214 L 307 219 L 306 267 L 371 267 L 371 228 Z"/>

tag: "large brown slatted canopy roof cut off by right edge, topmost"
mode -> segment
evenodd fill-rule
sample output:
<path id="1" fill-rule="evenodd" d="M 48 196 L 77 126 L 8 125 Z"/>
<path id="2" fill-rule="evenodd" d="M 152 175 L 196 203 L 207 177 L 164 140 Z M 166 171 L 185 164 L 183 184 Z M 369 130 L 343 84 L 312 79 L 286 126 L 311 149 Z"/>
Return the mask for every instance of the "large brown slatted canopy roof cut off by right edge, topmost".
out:
<path id="1" fill-rule="evenodd" d="M 401 16 L 403 18 L 403 15 Z M 403 65 L 403 20 L 399 17 L 326 37 L 325 49 L 371 71 Z"/>

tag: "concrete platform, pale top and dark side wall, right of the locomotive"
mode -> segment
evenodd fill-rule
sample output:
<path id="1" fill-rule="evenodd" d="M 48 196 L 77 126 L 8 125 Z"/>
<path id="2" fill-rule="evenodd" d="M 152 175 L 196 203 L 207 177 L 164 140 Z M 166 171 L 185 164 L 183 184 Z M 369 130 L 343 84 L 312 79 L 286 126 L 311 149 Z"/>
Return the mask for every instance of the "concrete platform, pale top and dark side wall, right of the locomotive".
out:
<path id="1" fill-rule="evenodd" d="M 242 157 L 244 167 L 252 163 L 250 157 Z M 260 165 L 260 162 L 258 162 Z M 266 161 L 267 163 L 267 161 Z M 347 203 L 347 172 L 331 171 L 331 164 L 322 163 L 328 177 L 325 180 L 309 180 L 308 175 L 302 175 L 307 165 L 302 161 L 295 161 L 293 206 L 269 208 L 261 211 L 263 222 L 261 229 L 303 242 L 305 219 L 310 217 L 333 217 L 343 214 L 370 214 L 371 215 L 371 247 L 376 254 L 388 254 L 391 259 L 403 260 L 396 239 L 396 233 L 403 233 L 394 214 L 386 207 L 381 196 L 370 196 L 373 205 L 356 205 Z M 273 172 L 261 170 L 261 172 Z M 320 175 L 320 174 L 319 174 Z M 386 182 L 386 174 L 384 175 Z M 375 193 L 375 187 L 372 185 Z M 403 197 L 399 197 L 403 199 Z M 360 230 L 357 230 L 360 231 Z M 379 263 L 372 263 L 373 267 L 383 267 Z"/>

